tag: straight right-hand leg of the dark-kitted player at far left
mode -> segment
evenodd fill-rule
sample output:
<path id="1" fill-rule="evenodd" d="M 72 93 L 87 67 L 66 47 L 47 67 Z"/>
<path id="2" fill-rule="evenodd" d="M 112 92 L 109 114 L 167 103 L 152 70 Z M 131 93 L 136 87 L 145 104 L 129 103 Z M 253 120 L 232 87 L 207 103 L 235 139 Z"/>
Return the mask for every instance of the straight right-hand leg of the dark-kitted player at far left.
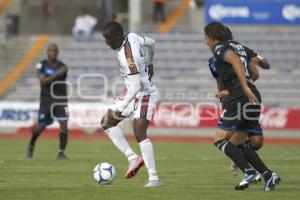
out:
<path id="1" fill-rule="evenodd" d="M 57 154 L 57 160 L 68 160 L 69 158 L 65 154 L 65 149 L 68 143 L 68 121 L 59 121 L 60 133 L 59 133 L 59 150 Z"/>

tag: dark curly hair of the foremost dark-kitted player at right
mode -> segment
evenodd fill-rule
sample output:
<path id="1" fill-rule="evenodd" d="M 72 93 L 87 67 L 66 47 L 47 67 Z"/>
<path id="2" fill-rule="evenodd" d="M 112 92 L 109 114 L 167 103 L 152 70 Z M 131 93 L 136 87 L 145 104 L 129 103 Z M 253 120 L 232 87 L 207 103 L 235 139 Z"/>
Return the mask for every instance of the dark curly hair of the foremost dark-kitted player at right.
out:
<path id="1" fill-rule="evenodd" d="M 232 39 L 230 29 L 220 22 L 211 22 L 204 27 L 205 35 L 219 42 L 225 42 Z"/>

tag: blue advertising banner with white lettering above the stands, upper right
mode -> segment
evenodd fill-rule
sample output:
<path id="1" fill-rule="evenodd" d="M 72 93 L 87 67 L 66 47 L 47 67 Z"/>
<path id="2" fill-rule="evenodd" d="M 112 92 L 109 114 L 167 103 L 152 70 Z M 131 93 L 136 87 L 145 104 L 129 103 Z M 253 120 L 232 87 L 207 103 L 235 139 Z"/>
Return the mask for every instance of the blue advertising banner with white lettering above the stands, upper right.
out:
<path id="1" fill-rule="evenodd" d="M 207 0 L 206 22 L 228 24 L 300 24 L 299 0 Z"/>

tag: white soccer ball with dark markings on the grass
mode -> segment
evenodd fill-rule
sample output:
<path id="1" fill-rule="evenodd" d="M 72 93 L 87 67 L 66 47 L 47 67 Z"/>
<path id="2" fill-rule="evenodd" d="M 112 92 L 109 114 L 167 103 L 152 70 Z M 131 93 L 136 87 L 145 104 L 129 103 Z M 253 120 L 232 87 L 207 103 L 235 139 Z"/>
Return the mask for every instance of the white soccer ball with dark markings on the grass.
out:
<path id="1" fill-rule="evenodd" d="M 101 162 L 94 167 L 93 176 L 100 185 L 111 184 L 116 175 L 114 166 L 109 163 Z"/>

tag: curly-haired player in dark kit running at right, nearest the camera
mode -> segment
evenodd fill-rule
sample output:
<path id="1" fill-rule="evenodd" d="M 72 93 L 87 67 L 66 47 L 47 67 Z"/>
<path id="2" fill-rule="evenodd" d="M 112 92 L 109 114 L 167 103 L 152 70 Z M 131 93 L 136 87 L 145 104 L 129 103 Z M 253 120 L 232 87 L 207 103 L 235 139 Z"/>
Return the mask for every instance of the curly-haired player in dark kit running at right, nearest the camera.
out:
<path id="1" fill-rule="evenodd" d="M 218 88 L 229 93 L 223 105 L 214 144 L 245 173 L 245 179 L 235 189 L 243 190 L 255 183 L 260 173 L 265 179 L 264 190 L 270 191 L 279 183 L 280 177 L 268 169 L 251 146 L 246 144 L 250 134 L 262 133 L 259 124 L 261 97 L 249 73 L 251 57 L 242 44 L 228 40 L 228 30 L 223 24 L 212 22 L 205 26 L 204 32 L 206 44 L 215 59 Z M 233 135 L 239 139 L 236 144 L 229 141 Z M 247 151 L 247 159 L 237 145 Z"/>

